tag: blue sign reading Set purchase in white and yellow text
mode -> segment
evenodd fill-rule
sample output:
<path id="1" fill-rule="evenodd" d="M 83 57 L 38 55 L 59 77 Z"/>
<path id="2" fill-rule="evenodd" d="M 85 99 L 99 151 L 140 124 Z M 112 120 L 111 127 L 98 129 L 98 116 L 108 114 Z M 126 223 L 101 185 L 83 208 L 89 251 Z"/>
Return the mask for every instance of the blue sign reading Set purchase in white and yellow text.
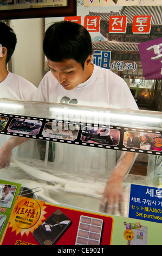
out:
<path id="1" fill-rule="evenodd" d="M 162 188 L 132 184 L 129 217 L 162 223 Z"/>

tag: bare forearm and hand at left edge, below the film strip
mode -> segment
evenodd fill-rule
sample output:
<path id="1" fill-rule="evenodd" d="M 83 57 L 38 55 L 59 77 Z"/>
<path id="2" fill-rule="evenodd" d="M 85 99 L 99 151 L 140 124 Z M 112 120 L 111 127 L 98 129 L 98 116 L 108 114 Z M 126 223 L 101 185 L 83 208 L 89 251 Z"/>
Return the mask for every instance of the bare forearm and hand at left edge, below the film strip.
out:
<path id="1" fill-rule="evenodd" d="M 11 137 L 7 142 L 5 142 L 0 149 L 0 168 L 8 168 L 10 166 L 12 149 L 28 141 L 29 138 L 22 137 Z"/>

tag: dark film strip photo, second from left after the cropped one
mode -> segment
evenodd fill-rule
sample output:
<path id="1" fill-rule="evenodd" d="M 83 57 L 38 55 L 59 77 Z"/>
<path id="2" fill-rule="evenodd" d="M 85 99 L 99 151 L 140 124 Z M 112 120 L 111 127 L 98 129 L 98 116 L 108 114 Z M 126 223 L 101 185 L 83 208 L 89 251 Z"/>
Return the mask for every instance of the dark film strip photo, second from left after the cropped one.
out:
<path id="1" fill-rule="evenodd" d="M 14 118 L 8 127 L 8 132 L 35 136 L 40 132 L 42 122 L 40 120 Z"/>

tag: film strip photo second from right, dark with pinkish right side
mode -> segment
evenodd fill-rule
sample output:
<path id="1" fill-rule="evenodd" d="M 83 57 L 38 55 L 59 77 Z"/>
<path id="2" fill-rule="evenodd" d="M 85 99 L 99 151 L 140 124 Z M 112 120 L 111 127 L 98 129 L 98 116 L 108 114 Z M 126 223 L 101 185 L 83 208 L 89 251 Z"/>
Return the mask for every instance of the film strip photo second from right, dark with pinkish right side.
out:
<path id="1" fill-rule="evenodd" d="M 120 141 L 120 131 L 107 127 L 85 126 L 81 135 L 82 142 L 116 146 Z"/>

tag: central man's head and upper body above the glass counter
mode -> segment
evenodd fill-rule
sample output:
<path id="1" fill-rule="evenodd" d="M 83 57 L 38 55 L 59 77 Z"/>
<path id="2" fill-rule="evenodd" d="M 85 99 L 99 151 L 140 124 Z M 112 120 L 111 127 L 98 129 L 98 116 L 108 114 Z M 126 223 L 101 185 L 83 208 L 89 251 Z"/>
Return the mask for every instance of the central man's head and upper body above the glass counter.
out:
<path id="1" fill-rule="evenodd" d="M 50 72 L 34 100 L 60 103 L 66 96 L 78 105 L 137 109 L 125 81 L 92 63 L 92 42 L 83 26 L 54 23 L 46 31 L 43 50 Z"/>

